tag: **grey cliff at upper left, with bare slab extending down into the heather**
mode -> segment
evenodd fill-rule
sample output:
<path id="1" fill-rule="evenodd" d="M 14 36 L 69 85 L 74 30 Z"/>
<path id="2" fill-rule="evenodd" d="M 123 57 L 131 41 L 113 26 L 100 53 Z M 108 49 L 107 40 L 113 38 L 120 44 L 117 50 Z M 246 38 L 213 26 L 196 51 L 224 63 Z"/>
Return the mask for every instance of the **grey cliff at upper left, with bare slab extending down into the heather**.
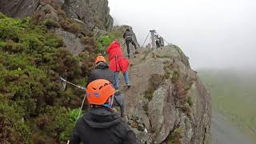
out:
<path id="1" fill-rule="evenodd" d="M 10 17 L 44 14 L 40 18 L 50 19 L 50 25 L 55 25 L 52 31 L 63 38 L 67 50 L 73 54 L 93 49 L 90 44 L 85 44 L 88 38 L 83 37 L 93 31 L 95 38 L 98 38 L 100 34 L 110 31 L 114 22 L 107 0 L 0 1 L 0 12 Z"/>

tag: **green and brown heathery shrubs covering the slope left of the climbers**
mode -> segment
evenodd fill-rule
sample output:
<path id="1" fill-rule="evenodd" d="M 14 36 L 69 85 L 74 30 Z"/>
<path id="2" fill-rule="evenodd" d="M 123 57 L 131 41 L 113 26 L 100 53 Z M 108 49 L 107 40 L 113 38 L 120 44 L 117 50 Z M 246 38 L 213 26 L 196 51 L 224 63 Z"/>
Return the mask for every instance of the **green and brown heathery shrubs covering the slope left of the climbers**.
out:
<path id="1" fill-rule="evenodd" d="M 74 57 L 49 20 L 0 13 L 0 139 L 2 143 L 64 143 L 70 138 L 82 91 L 58 78 L 85 83 L 93 66 L 86 52 Z M 48 28 L 48 29 L 47 29 Z M 94 52 L 94 51 L 92 51 Z M 94 54 L 94 53 L 92 53 Z"/>

